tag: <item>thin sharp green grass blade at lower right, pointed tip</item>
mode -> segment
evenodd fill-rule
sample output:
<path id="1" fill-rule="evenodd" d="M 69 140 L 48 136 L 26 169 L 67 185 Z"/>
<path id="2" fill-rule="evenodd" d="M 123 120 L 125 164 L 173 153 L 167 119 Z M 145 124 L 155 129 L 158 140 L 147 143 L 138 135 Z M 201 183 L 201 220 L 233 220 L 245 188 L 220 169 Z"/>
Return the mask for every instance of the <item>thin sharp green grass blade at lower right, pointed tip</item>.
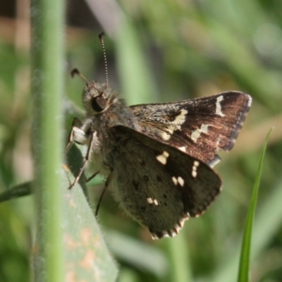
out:
<path id="1" fill-rule="evenodd" d="M 247 212 L 247 221 L 245 223 L 245 230 L 243 235 L 243 243 L 241 248 L 240 254 L 240 266 L 239 266 L 239 273 L 238 273 L 238 282 L 247 282 L 249 281 L 249 272 L 250 272 L 250 247 L 251 247 L 251 240 L 252 240 L 252 223 L 254 221 L 255 216 L 255 208 L 257 205 L 257 197 L 259 194 L 259 182 L 262 176 L 262 164 L 264 161 L 264 154 L 266 151 L 266 145 L 269 140 L 269 136 L 271 134 L 271 130 L 266 136 L 266 140 L 264 142 L 264 147 L 262 149 L 262 154 L 259 159 L 259 167 L 257 169 L 257 177 L 255 179 L 255 185 L 252 192 L 252 199 L 250 202 L 250 207 Z"/>

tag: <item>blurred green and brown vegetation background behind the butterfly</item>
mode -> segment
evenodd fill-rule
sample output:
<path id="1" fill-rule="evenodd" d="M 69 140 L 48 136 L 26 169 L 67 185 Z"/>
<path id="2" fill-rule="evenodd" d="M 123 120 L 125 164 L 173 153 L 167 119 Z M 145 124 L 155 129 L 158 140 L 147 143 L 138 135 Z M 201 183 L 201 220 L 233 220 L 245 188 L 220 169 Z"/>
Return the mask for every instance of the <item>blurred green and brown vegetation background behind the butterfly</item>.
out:
<path id="1" fill-rule="evenodd" d="M 0 3 L 0 192 L 32 179 L 29 6 L 28 0 Z M 259 153 L 275 126 L 255 218 L 251 281 L 281 281 L 282 2 L 67 1 L 66 136 L 73 118 L 69 102 L 81 107 L 84 86 L 70 78 L 71 69 L 105 81 L 101 30 L 106 33 L 109 82 L 128 104 L 226 90 L 253 97 L 234 149 L 222 153 L 216 166 L 223 192 L 176 238 L 152 241 L 106 193 L 99 223 L 120 266 L 119 280 L 235 281 Z M 102 185 L 95 186 L 89 188 L 94 204 L 102 191 Z M 0 204 L 0 281 L 30 280 L 33 201 L 24 197 Z"/>

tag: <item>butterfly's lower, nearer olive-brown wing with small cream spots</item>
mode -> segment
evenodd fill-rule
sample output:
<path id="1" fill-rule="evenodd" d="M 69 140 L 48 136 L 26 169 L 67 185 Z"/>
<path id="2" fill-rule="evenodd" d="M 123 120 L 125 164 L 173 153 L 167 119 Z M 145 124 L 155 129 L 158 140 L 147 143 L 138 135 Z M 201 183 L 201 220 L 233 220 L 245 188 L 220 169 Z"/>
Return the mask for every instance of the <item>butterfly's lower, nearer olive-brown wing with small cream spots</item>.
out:
<path id="1" fill-rule="evenodd" d="M 176 235 L 185 219 L 202 214 L 219 194 L 219 176 L 199 159 L 122 125 L 109 137 L 118 144 L 111 154 L 111 188 L 153 238 Z"/>

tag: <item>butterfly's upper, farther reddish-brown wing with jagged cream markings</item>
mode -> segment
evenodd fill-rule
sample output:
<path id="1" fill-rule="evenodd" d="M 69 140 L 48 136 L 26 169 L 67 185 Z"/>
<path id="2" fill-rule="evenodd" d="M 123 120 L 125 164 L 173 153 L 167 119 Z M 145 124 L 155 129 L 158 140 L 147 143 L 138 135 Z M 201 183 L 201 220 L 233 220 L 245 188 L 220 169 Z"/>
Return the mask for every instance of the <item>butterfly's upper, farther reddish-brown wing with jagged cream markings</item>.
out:
<path id="1" fill-rule="evenodd" d="M 213 166 L 216 152 L 232 149 L 252 98 L 243 92 L 166 104 L 130 106 L 142 133 Z"/>

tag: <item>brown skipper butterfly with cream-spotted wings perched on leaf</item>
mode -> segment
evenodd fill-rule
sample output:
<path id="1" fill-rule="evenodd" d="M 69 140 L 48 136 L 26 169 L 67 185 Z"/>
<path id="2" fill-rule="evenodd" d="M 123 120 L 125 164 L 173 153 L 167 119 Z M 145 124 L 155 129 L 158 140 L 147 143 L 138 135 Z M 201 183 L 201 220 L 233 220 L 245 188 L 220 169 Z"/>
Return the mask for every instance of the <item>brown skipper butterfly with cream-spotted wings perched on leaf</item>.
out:
<path id="1" fill-rule="evenodd" d="M 108 84 L 90 81 L 85 118 L 75 119 L 70 142 L 87 145 L 85 166 L 94 161 L 116 200 L 153 238 L 171 237 L 219 194 L 216 152 L 233 147 L 251 100 L 225 92 L 128 107 Z"/>

